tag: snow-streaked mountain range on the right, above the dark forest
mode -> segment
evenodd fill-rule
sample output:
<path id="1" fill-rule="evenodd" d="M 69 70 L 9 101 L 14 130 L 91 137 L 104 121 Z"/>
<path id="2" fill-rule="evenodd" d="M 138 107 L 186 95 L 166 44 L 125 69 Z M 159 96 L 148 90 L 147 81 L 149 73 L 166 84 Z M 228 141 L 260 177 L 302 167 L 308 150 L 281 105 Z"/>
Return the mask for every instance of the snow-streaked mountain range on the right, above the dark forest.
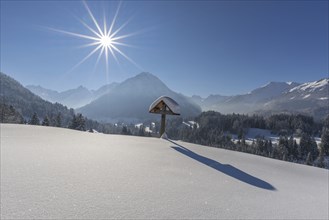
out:
<path id="1" fill-rule="evenodd" d="M 303 113 L 317 119 L 329 114 L 328 79 L 299 84 L 270 82 L 248 94 L 236 96 L 210 95 L 205 99 L 193 96 L 203 111 L 215 110 L 224 114 Z"/>

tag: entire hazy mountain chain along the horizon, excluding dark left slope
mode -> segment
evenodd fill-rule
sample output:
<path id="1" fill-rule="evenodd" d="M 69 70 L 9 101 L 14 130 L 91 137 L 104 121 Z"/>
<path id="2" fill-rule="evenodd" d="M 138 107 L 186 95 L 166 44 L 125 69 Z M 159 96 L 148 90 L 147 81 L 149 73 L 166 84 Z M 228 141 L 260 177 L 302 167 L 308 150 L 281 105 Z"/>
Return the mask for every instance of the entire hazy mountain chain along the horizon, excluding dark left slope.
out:
<path id="1" fill-rule="evenodd" d="M 105 85 L 98 90 L 80 86 L 58 93 L 40 86 L 27 87 L 46 100 L 79 108 L 87 116 L 101 120 L 150 118 L 152 116 L 147 108 L 152 99 L 160 95 L 175 97 L 185 116 L 198 114 L 199 107 L 202 111 L 214 110 L 223 114 L 302 113 L 315 119 L 323 119 L 329 114 L 328 78 L 303 84 L 269 82 L 248 94 L 210 95 L 207 98 L 177 94 L 150 73 L 139 74 L 122 83 Z"/>

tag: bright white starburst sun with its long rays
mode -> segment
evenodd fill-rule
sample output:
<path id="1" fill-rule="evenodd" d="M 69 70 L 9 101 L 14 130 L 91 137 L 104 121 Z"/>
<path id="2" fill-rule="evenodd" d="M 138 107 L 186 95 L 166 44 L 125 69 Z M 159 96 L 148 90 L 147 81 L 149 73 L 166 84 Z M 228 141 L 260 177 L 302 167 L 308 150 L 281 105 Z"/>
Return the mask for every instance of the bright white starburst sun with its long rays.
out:
<path id="1" fill-rule="evenodd" d="M 82 21 L 79 18 L 78 18 L 78 20 L 86 29 L 88 29 L 88 31 L 90 32 L 90 35 L 49 28 L 56 32 L 60 32 L 60 33 L 70 35 L 73 37 L 77 37 L 77 38 L 88 39 L 91 41 L 89 44 L 83 45 L 83 47 L 93 47 L 92 51 L 89 54 L 87 54 L 79 63 L 77 63 L 75 66 L 73 66 L 71 71 L 74 70 L 75 68 L 77 68 L 78 66 L 80 66 L 82 63 L 84 63 L 88 58 L 90 58 L 96 52 L 98 52 L 98 57 L 97 57 L 95 66 L 98 65 L 100 58 L 102 56 L 104 56 L 105 62 L 106 62 L 107 75 L 109 72 L 109 55 L 111 55 L 114 58 L 114 60 L 117 62 L 117 64 L 120 65 L 118 57 L 117 57 L 117 55 L 119 54 L 120 56 L 122 56 L 126 60 L 128 60 L 130 63 L 134 64 L 138 69 L 142 70 L 142 68 L 135 61 L 133 61 L 129 56 L 127 56 L 119 48 L 119 46 L 132 47 L 131 45 L 124 43 L 123 39 L 134 36 L 139 33 L 139 32 L 135 32 L 135 33 L 120 35 L 120 31 L 122 31 L 122 29 L 129 23 L 130 19 L 128 19 L 120 27 L 115 29 L 116 21 L 117 21 L 117 17 L 119 14 L 121 4 L 122 4 L 122 2 L 118 3 L 118 7 L 115 12 L 115 15 L 110 22 L 107 22 L 105 15 L 104 15 L 103 27 L 101 28 L 100 23 L 95 19 L 94 15 L 91 12 L 90 8 L 88 7 L 87 3 L 85 1 L 83 1 L 83 5 L 85 6 L 85 9 L 89 14 L 89 17 L 92 20 L 94 27 L 89 26 L 87 23 L 85 23 L 84 21 Z M 107 24 L 110 24 L 110 25 L 107 25 Z"/>

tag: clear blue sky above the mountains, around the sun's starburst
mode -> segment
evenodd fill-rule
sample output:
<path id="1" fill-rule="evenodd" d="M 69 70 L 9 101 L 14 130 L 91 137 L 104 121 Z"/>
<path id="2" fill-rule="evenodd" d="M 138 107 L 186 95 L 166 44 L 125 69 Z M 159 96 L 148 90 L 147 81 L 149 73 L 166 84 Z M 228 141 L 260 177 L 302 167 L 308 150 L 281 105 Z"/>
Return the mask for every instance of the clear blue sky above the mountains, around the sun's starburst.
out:
<path id="1" fill-rule="evenodd" d="M 87 1 L 103 29 L 119 2 Z M 82 47 L 94 35 L 82 1 L 1 0 L 1 71 L 23 85 L 63 91 L 121 82 L 142 71 L 186 95 L 247 93 L 269 81 L 307 82 L 328 77 L 328 1 L 123 1 L 113 26 L 134 47 L 116 52 Z"/>

